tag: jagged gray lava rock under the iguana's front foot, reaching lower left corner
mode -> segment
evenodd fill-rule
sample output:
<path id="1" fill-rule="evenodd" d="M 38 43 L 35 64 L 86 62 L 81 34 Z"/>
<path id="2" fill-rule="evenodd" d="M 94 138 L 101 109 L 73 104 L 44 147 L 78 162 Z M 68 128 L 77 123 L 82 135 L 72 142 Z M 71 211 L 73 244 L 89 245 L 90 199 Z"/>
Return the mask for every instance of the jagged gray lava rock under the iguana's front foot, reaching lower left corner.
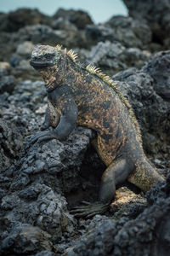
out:
<path id="1" fill-rule="evenodd" d="M 30 248 L 37 253 L 49 250 L 52 241 L 71 236 L 77 221 L 68 212 L 63 195 L 80 185 L 77 176 L 90 137 L 91 130 L 79 127 L 63 143 L 53 140 L 33 147 L 26 143 L 17 165 L 2 170 L 6 186 L 1 191 L 0 252 L 28 253 Z M 7 226 L 8 232 L 3 232 Z"/>

